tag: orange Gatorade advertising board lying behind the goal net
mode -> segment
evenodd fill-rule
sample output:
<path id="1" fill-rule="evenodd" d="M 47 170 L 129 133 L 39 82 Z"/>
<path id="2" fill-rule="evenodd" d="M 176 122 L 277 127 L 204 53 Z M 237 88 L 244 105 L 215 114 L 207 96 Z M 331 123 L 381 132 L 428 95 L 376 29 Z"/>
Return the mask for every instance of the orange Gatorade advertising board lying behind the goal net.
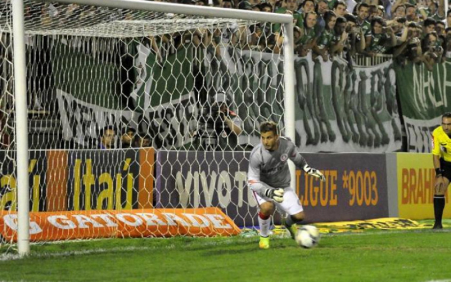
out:
<path id="1" fill-rule="evenodd" d="M 30 241 L 108 237 L 231 236 L 240 229 L 217 207 L 30 212 Z M 17 240 L 17 213 L 0 211 L 0 234 Z"/>

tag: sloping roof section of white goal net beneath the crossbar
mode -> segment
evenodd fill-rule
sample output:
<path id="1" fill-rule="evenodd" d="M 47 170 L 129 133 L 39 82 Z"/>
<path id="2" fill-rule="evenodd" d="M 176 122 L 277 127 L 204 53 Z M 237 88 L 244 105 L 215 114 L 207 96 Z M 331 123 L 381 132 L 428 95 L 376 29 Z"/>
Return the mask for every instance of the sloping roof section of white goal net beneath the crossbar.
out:
<path id="1" fill-rule="evenodd" d="M 25 0 L 25 32 L 28 35 L 70 35 L 89 37 L 142 37 L 170 34 L 195 28 L 246 26 L 247 21 L 207 19 L 173 13 L 136 11 Z M 2 1 L 3 15 L 11 12 L 9 1 Z M 1 26 L 8 26 L 1 17 Z"/>

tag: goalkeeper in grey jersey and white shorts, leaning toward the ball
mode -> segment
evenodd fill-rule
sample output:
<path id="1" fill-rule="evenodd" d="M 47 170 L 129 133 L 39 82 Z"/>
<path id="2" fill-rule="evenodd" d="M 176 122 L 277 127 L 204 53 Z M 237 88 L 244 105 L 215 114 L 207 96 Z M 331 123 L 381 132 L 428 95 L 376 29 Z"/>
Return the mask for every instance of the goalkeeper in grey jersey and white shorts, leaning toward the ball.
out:
<path id="1" fill-rule="evenodd" d="M 260 135 L 262 142 L 250 155 L 247 183 L 259 205 L 259 246 L 261 249 L 268 249 L 270 217 L 276 206 L 288 214 L 284 225 L 293 239 L 297 231 L 296 223 L 302 221 L 305 216 L 299 198 L 290 187 L 288 159 L 321 181 L 325 181 L 325 177 L 317 169 L 308 166 L 290 139 L 279 137 L 274 122 L 260 124 Z"/>

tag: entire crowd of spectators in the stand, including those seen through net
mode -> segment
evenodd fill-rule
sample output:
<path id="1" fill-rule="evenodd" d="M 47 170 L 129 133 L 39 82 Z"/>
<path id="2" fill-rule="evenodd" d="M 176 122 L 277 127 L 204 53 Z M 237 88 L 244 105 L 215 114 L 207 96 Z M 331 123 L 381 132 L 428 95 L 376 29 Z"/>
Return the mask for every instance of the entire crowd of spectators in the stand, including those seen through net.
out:
<path id="1" fill-rule="evenodd" d="M 445 11 L 446 0 L 156 0 L 229 9 L 272 12 L 293 15 L 294 43 L 298 55 L 310 52 L 313 58 L 327 61 L 339 55 L 349 58 L 356 53 L 365 56 L 394 55 L 396 60 L 424 63 L 431 70 L 434 63 L 451 59 L 451 10 Z M 52 15 L 63 14 L 56 5 L 41 7 L 43 23 Z M 27 9 L 29 14 L 32 11 Z M 111 20 L 138 19 L 136 11 L 115 10 Z M 64 17 L 89 19 L 96 10 L 70 4 Z M 149 37 L 151 48 L 162 60 L 160 48 L 170 41 L 213 46 L 220 55 L 223 45 L 240 49 L 257 49 L 279 53 L 283 32 L 279 24 L 259 23 L 251 26 L 227 26 L 211 31 L 198 28 L 181 34 Z M 172 38 L 172 37 L 178 37 Z"/>

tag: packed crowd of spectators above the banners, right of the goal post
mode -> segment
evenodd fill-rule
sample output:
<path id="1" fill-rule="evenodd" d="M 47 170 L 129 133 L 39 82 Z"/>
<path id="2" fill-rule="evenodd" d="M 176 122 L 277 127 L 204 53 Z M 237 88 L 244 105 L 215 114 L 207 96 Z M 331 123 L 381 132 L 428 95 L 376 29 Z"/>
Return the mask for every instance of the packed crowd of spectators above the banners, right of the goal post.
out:
<path id="1" fill-rule="evenodd" d="M 451 10 L 445 13 L 444 0 L 226 2 L 232 8 L 292 14 L 295 50 L 300 56 L 312 52 L 313 58 L 327 61 L 336 55 L 388 54 L 400 64 L 424 63 L 428 70 L 451 59 Z M 279 52 L 280 26 L 272 25 L 268 31 L 274 36 L 266 36 L 265 49 Z M 259 45 L 258 38 L 251 40 L 250 46 Z"/>

